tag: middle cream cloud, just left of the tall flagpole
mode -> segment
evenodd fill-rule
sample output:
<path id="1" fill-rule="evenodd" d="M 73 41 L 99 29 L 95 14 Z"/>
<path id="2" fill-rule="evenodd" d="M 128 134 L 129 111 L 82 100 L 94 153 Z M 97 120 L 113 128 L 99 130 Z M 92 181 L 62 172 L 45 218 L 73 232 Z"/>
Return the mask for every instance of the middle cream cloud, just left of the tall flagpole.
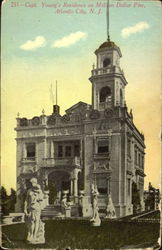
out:
<path id="1" fill-rule="evenodd" d="M 77 43 L 81 39 L 85 39 L 87 34 L 85 32 L 77 31 L 75 33 L 71 33 L 68 36 L 64 36 L 63 38 L 54 41 L 52 44 L 52 48 L 62 48 L 69 47 L 74 43 Z"/>

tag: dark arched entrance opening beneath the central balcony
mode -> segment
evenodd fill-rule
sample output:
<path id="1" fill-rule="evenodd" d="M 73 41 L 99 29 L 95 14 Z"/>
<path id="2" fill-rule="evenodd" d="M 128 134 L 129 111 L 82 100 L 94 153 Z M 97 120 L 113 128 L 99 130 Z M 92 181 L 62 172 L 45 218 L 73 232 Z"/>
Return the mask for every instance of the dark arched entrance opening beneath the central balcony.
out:
<path id="1" fill-rule="evenodd" d="M 70 192 L 70 174 L 66 171 L 53 171 L 48 175 L 49 204 L 59 203 L 62 192 Z"/>

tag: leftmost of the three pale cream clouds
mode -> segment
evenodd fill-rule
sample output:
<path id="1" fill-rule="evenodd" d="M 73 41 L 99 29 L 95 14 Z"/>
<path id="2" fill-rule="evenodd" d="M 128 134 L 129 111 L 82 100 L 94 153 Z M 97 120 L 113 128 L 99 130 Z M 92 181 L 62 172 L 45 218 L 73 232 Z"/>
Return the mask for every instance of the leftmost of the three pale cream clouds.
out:
<path id="1" fill-rule="evenodd" d="M 35 40 L 28 40 L 26 43 L 20 46 L 20 49 L 23 50 L 36 50 L 40 47 L 44 47 L 46 44 L 46 40 L 43 36 L 37 36 Z"/>

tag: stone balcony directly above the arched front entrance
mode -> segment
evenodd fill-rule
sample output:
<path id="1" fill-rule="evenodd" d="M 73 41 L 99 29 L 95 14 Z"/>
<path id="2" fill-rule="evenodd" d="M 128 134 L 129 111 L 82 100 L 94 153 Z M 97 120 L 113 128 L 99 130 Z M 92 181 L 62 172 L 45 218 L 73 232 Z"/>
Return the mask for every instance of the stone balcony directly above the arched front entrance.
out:
<path id="1" fill-rule="evenodd" d="M 43 159 L 44 167 L 55 167 L 55 166 L 81 166 L 81 159 L 78 156 L 69 157 L 69 158 L 44 158 Z"/>

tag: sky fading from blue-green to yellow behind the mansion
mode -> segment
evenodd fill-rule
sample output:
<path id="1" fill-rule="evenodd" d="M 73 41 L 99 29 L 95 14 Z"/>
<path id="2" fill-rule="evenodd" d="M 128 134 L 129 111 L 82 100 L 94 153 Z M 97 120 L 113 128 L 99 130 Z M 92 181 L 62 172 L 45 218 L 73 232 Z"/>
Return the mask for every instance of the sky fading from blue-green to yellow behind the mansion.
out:
<path id="1" fill-rule="evenodd" d="M 62 114 L 79 101 L 91 103 L 88 78 L 96 63 L 94 51 L 107 38 L 105 3 L 3 2 L 1 184 L 7 190 L 16 187 L 17 113 L 32 118 L 44 109 L 51 114 L 49 89 L 56 80 Z M 121 49 L 128 81 L 127 106 L 145 135 L 146 189 L 148 182 L 160 185 L 160 10 L 159 1 L 110 0 L 109 8 L 110 38 Z"/>

